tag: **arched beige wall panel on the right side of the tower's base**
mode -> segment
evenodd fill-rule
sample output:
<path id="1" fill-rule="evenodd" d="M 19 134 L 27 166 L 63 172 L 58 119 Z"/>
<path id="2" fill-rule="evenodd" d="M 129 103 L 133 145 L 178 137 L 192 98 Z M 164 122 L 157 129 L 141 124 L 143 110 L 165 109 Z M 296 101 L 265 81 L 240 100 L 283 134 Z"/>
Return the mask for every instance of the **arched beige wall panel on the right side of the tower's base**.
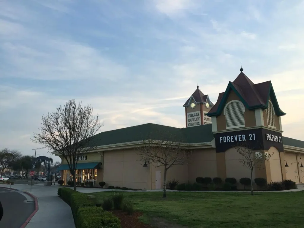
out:
<path id="1" fill-rule="evenodd" d="M 269 150 L 265 152 L 271 155 L 269 158 L 271 181 L 282 181 L 280 153 L 275 147 L 270 147 Z"/>

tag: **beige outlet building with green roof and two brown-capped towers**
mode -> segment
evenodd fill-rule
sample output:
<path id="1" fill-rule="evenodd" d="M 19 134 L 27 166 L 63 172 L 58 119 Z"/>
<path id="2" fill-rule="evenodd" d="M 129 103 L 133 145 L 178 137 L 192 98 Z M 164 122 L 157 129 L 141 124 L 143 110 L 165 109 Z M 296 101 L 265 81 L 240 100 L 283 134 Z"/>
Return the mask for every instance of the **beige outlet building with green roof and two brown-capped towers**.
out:
<path id="1" fill-rule="evenodd" d="M 161 188 L 164 167 L 159 163 L 143 166 L 137 148 L 143 140 L 161 140 L 158 132 L 166 131 L 182 134 L 185 146 L 192 151 L 187 164 L 168 170 L 167 180 L 174 178 L 183 183 L 195 182 L 196 177 L 250 177 L 250 170 L 240 163 L 237 152 L 243 143 L 252 150 L 271 154 L 261 169 L 254 170 L 254 178 L 304 182 L 304 142 L 282 136 L 281 116 L 285 113 L 271 81 L 254 84 L 242 71 L 228 83 L 215 104 L 197 87 L 183 105 L 185 128 L 147 123 L 95 135 L 90 142 L 95 149 L 78 161 L 77 181 L 105 181 L 106 186 L 134 189 Z M 66 183 L 71 175 L 64 159 L 59 169 Z"/>

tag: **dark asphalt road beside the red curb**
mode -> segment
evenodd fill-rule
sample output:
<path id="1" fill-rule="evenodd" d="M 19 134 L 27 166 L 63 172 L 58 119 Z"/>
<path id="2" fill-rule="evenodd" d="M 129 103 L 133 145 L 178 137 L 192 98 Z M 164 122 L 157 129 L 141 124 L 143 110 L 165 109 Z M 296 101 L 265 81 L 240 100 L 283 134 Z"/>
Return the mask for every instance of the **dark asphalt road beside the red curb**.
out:
<path id="1" fill-rule="evenodd" d="M 35 203 L 26 203 L 24 195 L 9 189 L 0 188 L 0 201 L 4 211 L 0 221 L 1 228 L 20 228 L 35 210 Z"/>

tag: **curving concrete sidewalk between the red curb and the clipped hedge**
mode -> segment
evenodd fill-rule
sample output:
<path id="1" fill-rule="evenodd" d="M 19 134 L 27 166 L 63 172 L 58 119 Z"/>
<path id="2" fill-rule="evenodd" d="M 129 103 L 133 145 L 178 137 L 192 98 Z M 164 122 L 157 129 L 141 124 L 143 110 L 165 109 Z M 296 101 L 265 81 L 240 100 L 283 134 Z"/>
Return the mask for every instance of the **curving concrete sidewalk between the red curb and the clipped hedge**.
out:
<path id="1" fill-rule="evenodd" d="M 30 192 L 30 185 L 14 184 L 11 187 L 29 192 L 37 197 L 38 211 L 26 225 L 26 228 L 75 228 L 70 206 L 57 196 L 59 185 L 35 184 L 32 186 L 32 192 Z"/>

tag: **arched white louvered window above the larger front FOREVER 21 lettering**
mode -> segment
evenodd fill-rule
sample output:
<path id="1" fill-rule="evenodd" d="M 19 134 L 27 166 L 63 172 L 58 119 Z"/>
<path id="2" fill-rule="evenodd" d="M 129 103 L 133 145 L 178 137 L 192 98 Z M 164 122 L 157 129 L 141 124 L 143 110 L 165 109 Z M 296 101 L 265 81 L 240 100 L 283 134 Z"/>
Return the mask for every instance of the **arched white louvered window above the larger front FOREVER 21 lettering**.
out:
<path id="1" fill-rule="evenodd" d="M 244 111 L 245 107 L 241 102 L 229 102 L 224 109 L 224 115 L 226 116 L 226 129 L 244 127 Z"/>

